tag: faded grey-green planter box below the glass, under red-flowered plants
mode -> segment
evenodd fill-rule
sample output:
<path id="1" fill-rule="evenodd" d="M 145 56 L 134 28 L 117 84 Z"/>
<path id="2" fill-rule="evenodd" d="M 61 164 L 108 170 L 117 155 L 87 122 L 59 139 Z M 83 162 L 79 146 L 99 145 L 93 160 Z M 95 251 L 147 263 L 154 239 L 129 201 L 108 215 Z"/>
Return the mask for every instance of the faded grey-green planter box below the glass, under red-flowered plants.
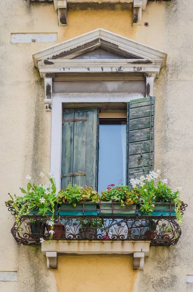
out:
<path id="1" fill-rule="evenodd" d="M 121 203 L 113 203 L 113 216 L 136 216 L 136 204 L 121 207 Z M 102 202 L 100 204 L 100 215 L 112 216 L 112 204 Z"/>

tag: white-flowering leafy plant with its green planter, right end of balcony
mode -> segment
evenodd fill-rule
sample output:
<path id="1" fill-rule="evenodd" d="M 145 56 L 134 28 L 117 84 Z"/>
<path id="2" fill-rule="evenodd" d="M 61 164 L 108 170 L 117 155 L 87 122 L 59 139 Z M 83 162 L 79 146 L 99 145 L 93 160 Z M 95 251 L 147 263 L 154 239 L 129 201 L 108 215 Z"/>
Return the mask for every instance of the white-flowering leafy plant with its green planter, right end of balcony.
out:
<path id="1" fill-rule="evenodd" d="M 150 171 L 146 177 L 131 179 L 130 183 L 140 198 L 139 215 L 173 216 L 179 221 L 182 220 L 181 200 L 179 198 L 181 188 L 177 187 L 175 191 L 172 191 L 167 186 L 167 179 L 159 179 L 159 171 Z"/>

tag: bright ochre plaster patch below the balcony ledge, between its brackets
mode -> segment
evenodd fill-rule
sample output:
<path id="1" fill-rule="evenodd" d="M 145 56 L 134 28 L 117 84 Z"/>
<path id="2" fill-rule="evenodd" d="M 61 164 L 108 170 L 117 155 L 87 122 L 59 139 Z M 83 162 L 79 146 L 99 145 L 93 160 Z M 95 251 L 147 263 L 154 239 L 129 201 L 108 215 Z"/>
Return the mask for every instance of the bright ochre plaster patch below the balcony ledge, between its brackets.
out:
<path id="1" fill-rule="evenodd" d="M 59 256 L 57 292 L 134 292 L 132 256 Z"/>

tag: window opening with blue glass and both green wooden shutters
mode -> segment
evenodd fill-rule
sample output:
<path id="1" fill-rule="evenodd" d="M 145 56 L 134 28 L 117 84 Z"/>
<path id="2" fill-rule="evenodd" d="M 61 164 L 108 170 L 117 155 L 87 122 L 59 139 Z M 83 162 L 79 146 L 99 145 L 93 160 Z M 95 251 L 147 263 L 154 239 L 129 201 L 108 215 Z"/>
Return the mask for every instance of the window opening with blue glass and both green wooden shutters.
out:
<path id="1" fill-rule="evenodd" d="M 62 189 L 70 182 L 101 191 L 121 179 L 127 184 L 154 165 L 155 98 L 124 104 L 126 119 L 99 116 L 95 105 L 63 110 Z"/>

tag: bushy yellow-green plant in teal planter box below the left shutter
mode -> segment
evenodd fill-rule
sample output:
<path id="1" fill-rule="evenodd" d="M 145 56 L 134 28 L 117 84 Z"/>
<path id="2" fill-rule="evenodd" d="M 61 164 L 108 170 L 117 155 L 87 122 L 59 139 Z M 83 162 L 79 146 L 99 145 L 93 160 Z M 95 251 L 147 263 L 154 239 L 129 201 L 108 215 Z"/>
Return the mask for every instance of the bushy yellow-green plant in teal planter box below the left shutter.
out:
<path id="1" fill-rule="evenodd" d="M 85 188 L 83 188 L 76 184 L 71 185 L 71 183 L 69 183 L 65 190 L 59 191 L 58 196 L 60 203 L 58 210 L 59 215 L 97 215 L 96 203 L 99 201 L 100 196 L 91 186 L 85 186 Z M 87 204 L 85 204 L 85 202 L 87 202 Z"/>

